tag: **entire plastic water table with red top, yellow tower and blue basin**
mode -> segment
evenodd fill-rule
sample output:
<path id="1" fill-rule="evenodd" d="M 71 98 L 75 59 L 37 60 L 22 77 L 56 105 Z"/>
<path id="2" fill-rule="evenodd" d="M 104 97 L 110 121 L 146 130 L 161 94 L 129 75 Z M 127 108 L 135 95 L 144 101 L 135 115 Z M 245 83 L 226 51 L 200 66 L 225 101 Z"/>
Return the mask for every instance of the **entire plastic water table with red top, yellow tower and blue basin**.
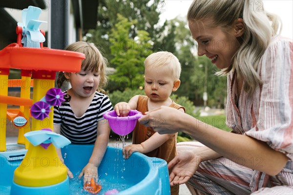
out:
<path id="1" fill-rule="evenodd" d="M 1 121 L 0 195 L 88 195 L 77 176 L 87 163 L 93 145 L 66 145 L 69 142 L 61 141 L 64 138 L 52 132 L 52 102 L 42 100 L 54 88 L 56 71 L 80 71 L 84 54 L 43 47 L 40 13 L 37 7 L 23 10 L 22 23 L 16 29 L 17 43 L 0 51 L 0 118 L 7 118 L 19 128 L 17 143 L 6 143 L 6 124 Z M 21 79 L 8 79 L 11 68 L 21 69 Z M 8 96 L 11 86 L 21 87 L 20 98 Z M 30 99 L 31 86 L 33 99 Z M 20 107 L 7 109 L 8 104 Z M 35 135 L 39 137 L 31 139 Z M 68 178 L 56 147 L 63 147 L 64 163 L 76 179 Z M 108 147 L 98 171 L 102 185 L 99 194 L 106 191 L 124 195 L 170 194 L 167 163 L 159 158 L 134 153 L 124 159 L 122 149 Z"/>

